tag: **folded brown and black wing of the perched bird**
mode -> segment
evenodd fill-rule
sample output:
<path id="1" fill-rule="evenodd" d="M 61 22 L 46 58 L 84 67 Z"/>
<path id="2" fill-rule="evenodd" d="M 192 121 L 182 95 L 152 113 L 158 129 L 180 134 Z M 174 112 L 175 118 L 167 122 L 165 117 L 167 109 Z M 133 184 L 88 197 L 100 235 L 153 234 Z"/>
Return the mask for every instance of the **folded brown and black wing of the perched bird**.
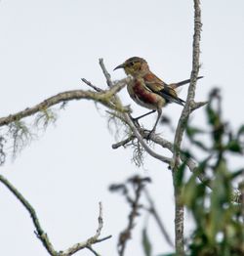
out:
<path id="1" fill-rule="evenodd" d="M 176 91 L 171 86 L 167 85 L 153 73 L 147 73 L 143 76 L 146 88 L 163 97 L 168 103 L 184 104 L 184 101 L 177 96 Z"/>

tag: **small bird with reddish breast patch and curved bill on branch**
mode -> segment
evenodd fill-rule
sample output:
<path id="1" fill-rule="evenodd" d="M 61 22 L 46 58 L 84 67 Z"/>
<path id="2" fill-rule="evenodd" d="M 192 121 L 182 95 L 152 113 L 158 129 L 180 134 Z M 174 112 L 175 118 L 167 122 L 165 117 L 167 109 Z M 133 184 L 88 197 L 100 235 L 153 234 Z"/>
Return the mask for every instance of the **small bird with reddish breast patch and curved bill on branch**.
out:
<path id="1" fill-rule="evenodd" d="M 150 133 L 155 132 L 157 123 L 162 114 L 162 107 L 170 103 L 184 105 L 184 101 L 178 97 L 176 89 L 190 82 L 190 79 L 179 83 L 166 84 L 149 69 L 145 60 L 140 57 L 132 57 L 114 68 L 123 68 L 126 74 L 134 79 L 127 85 L 130 97 L 140 106 L 152 109 L 152 111 L 136 118 L 139 119 L 147 114 L 157 111 L 157 120 Z M 197 77 L 197 79 L 203 76 Z"/>

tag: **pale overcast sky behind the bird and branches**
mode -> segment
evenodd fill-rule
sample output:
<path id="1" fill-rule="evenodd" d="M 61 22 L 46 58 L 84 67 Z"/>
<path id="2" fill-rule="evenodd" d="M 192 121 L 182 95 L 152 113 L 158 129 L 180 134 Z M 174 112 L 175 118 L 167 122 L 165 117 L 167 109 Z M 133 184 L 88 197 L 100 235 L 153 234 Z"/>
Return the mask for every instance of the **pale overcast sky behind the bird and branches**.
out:
<path id="1" fill-rule="evenodd" d="M 219 86 L 224 96 L 224 117 L 234 127 L 243 123 L 244 2 L 202 1 L 200 74 L 196 100 L 204 101 Z M 125 77 L 112 69 L 133 56 L 147 60 L 164 81 L 186 79 L 191 70 L 193 0 L 2 0 L 0 2 L 0 116 L 31 107 L 59 92 L 87 89 L 81 77 L 105 88 L 99 58 L 113 79 Z M 187 88 L 183 88 L 184 99 Z M 144 112 L 120 93 L 134 114 Z M 59 112 L 55 126 L 23 149 L 15 161 L 1 167 L 5 175 L 36 209 L 45 232 L 57 250 L 94 235 L 99 201 L 103 204 L 102 235 L 113 235 L 95 248 L 116 255 L 117 235 L 127 224 L 128 207 L 107 187 L 134 174 L 151 177 L 151 194 L 163 222 L 174 236 L 174 203 L 171 173 L 149 156 L 144 168 L 132 162 L 132 149 L 111 149 L 114 136 L 107 129 L 104 108 L 92 102 L 69 103 Z M 176 125 L 182 108 L 164 112 Z M 192 122 L 204 122 L 203 110 Z M 150 129 L 155 116 L 144 120 Z M 3 130 L 1 130 L 3 131 Z M 166 139 L 165 127 L 157 128 Z M 169 137 L 168 137 L 169 136 Z M 11 149 L 8 149 L 11 151 Z M 165 153 L 160 151 L 160 153 Z M 0 185 L 0 255 L 47 255 L 33 234 L 28 213 Z M 186 228 L 192 227 L 187 222 Z M 142 225 L 128 243 L 126 255 L 142 255 Z M 155 255 L 171 248 L 149 220 Z M 82 250 L 77 255 L 91 255 Z"/>

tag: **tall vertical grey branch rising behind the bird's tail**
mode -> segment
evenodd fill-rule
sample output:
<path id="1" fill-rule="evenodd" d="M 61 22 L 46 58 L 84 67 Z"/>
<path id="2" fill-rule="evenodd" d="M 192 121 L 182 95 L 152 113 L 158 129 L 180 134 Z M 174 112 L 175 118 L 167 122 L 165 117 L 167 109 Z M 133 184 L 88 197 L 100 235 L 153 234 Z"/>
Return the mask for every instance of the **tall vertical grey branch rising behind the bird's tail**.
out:
<path id="1" fill-rule="evenodd" d="M 175 244 L 177 255 L 184 255 L 183 248 L 183 203 L 181 202 L 181 186 L 177 182 L 178 169 L 180 164 L 181 145 L 183 141 L 183 132 L 185 130 L 188 117 L 192 109 L 196 108 L 195 89 L 196 81 L 199 71 L 199 56 L 200 56 L 200 38 L 201 38 L 201 9 L 200 0 L 194 1 L 194 35 L 193 35 L 193 57 L 192 57 L 192 71 L 190 75 L 190 85 L 188 88 L 186 104 L 183 107 L 183 112 L 180 117 L 175 140 L 174 140 L 174 155 L 172 162 L 173 182 L 175 191 Z"/>

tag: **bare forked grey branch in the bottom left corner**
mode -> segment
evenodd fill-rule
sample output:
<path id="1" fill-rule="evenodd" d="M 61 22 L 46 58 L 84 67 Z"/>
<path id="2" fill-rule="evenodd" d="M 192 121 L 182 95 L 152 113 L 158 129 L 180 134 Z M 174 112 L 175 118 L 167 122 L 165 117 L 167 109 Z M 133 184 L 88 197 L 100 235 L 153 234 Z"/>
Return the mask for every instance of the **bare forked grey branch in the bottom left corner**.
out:
<path id="1" fill-rule="evenodd" d="M 37 214 L 35 212 L 35 209 L 31 206 L 31 204 L 22 196 L 22 194 L 2 175 L 0 175 L 0 182 L 2 184 L 4 184 L 11 192 L 13 192 L 13 194 L 20 200 L 20 203 L 24 206 L 24 208 L 29 212 L 30 217 L 32 219 L 32 222 L 34 224 L 35 227 L 35 234 L 37 235 L 37 237 L 41 240 L 41 242 L 43 243 L 44 247 L 47 249 L 47 251 L 49 252 L 50 255 L 52 256 L 69 256 L 72 255 L 74 253 L 76 253 L 77 251 L 84 249 L 84 248 L 88 248 L 91 250 L 91 245 L 98 243 L 98 242 L 102 242 L 103 240 L 106 240 L 108 238 L 111 237 L 111 235 L 105 236 L 101 239 L 99 239 L 101 232 L 102 232 L 102 224 L 103 224 L 103 220 L 102 220 L 102 203 L 100 202 L 100 214 L 99 214 L 99 227 L 98 230 L 96 232 L 96 235 L 90 237 L 89 239 L 87 239 L 84 242 L 79 242 L 74 244 L 73 246 L 71 246 L 70 248 L 68 248 L 66 251 L 61 251 L 58 252 L 54 249 L 48 235 L 43 231 L 39 219 L 37 217 Z M 90 247 L 90 248 L 89 248 Z"/>

